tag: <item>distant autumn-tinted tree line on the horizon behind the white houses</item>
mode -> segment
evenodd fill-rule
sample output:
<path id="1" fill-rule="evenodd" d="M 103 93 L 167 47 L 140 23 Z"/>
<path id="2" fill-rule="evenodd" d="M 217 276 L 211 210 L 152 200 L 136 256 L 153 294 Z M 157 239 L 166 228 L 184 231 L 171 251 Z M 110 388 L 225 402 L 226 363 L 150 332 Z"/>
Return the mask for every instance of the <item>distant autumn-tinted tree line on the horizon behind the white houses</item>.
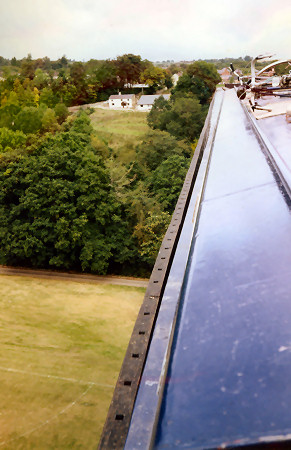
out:
<path id="1" fill-rule="evenodd" d="M 2 63 L 8 64 L 1 67 L 1 58 Z M 108 60 L 91 59 L 86 63 L 70 61 L 65 56 L 55 62 L 47 57 L 33 60 L 31 55 L 21 61 L 0 57 L 0 68 L 4 78 L 0 83 L 1 103 L 9 101 L 16 81 L 25 91 L 39 95 L 40 104 L 48 107 L 104 101 L 111 94 L 131 89 L 134 83 L 148 84 L 149 93 L 172 86 L 168 70 L 133 54 Z"/>

